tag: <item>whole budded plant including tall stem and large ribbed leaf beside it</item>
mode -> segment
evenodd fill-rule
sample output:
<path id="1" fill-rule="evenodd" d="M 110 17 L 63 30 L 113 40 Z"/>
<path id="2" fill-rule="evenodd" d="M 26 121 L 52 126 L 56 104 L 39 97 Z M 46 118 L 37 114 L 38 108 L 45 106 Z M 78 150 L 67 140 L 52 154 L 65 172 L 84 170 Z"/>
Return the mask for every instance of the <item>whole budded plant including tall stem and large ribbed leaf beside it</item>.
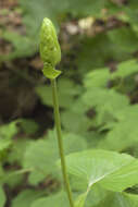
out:
<path id="1" fill-rule="evenodd" d="M 108 206 L 126 207 L 126 204 L 128 204 L 129 207 L 137 207 L 138 196 L 124 193 L 124 191 L 138 184 L 138 159 L 126 154 L 118 154 L 103 149 L 78 151 L 67 155 L 65 159 L 57 90 L 57 77 L 60 75 L 61 71 L 55 70 L 57 64 L 61 60 L 61 49 L 58 41 L 57 32 L 49 19 L 43 20 L 40 31 L 40 56 L 43 61 L 43 74 L 51 81 L 52 86 L 54 120 L 61 158 L 61 168 L 70 207 L 84 207 L 85 203 L 87 203 L 87 195 L 91 188 L 92 193 L 98 193 L 99 198 L 101 188 L 104 193 L 106 193 L 105 197 L 110 195 L 108 193 L 109 191 L 112 192 L 112 195 L 118 196 L 117 203 L 116 199 L 114 203 L 114 197 L 112 197 L 113 202 L 109 203 L 108 200 Z M 67 171 L 71 175 L 75 175 L 77 181 L 79 180 L 79 186 L 84 188 L 84 193 L 81 193 L 75 202 L 73 200 Z M 114 194 L 113 192 L 117 194 Z M 92 199 L 95 199 L 93 197 Z M 102 206 L 106 206 L 106 198 L 104 198 Z M 91 207 L 99 206 L 95 205 L 95 202 L 97 203 L 97 199 L 91 203 Z M 55 206 L 58 205 L 55 204 Z"/>

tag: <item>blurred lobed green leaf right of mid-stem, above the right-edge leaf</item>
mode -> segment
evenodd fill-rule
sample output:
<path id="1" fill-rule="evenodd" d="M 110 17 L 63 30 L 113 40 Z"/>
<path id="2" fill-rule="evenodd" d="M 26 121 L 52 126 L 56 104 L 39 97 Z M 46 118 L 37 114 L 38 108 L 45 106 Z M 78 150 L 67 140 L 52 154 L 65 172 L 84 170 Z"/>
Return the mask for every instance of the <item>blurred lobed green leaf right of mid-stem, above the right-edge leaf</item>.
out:
<path id="1" fill-rule="evenodd" d="M 127 107 L 129 101 L 124 95 L 114 89 L 92 87 L 83 95 L 83 101 L 88 109 L 96 108 L 98 112 L 98 123 L 113 121 L 114 113 Z"/>

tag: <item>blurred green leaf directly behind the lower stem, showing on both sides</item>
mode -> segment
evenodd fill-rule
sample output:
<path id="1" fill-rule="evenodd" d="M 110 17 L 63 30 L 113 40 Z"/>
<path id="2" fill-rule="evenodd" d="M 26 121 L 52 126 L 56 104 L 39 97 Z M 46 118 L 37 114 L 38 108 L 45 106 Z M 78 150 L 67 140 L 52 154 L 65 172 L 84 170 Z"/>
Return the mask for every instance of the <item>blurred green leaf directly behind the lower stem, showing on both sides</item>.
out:
<path id="1" fill-rule="evenodd" d="M 86 149 L 84 138 L 75 134 L 63 133 L 65 155 Z M 55 132 L 49 132 L 47 139 L 35 141 L 29 144 L 24 157 L 24 168 L 32 169 L 29 182 L 37 184 L 48 174 L 58 175 L 55 161 L 59 158 L 59 148 Z"/>

